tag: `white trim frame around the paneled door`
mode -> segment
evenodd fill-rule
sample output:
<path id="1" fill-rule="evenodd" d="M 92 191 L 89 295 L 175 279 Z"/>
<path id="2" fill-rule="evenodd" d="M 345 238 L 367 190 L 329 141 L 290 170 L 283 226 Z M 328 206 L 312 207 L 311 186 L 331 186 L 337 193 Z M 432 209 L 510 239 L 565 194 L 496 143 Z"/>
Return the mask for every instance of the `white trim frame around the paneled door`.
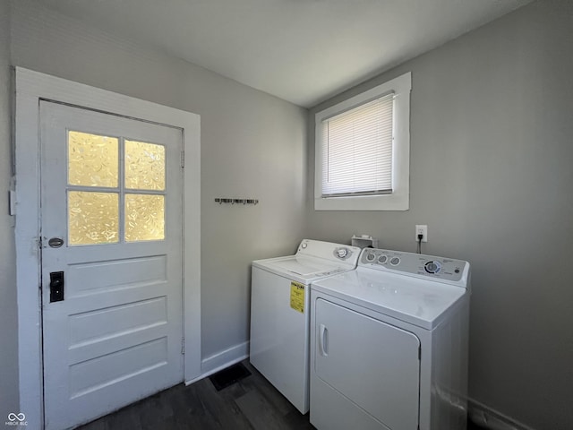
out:
<path id="1" fill-rule="evenodd" d="M 15 239 L 20 410 L 30 429 L 43 428 L 40 308 L 39 101 L 53 100 L 183 129 L 184 381 L 201 375 L 201 123 L 200 116 L 15 68 Z"/>

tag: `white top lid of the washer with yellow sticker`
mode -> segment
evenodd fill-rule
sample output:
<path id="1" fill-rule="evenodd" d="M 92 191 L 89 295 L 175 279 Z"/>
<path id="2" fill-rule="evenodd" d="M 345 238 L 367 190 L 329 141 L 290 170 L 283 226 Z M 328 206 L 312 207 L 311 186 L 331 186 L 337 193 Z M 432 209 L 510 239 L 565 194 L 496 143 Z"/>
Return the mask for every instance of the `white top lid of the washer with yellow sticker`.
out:
<path id="1" fill-rule="evenodd" d="M 257 260 L 252 262 L 252 266 L 304 284 L 342 271 L 351 271 L 355 268 L 353 264 L 331 262 L 304 255 L 290 255 L 287 257 L 270 258 L 268 260 Z"/>

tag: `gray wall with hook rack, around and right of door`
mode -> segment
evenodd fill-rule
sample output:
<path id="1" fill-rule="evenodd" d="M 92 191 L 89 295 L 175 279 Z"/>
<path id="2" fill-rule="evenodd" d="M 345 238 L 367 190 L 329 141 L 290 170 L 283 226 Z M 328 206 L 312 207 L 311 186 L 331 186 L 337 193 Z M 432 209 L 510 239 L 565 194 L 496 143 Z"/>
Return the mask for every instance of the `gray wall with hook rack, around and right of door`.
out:
<path id="1" fill-rule="evenodd" d="M 202 357 L 244 344 L 250 262 L 292 254 L 303 235 L 306 110 L 29 0 L 12 3 L 12 63 L 201 115 Z"/>

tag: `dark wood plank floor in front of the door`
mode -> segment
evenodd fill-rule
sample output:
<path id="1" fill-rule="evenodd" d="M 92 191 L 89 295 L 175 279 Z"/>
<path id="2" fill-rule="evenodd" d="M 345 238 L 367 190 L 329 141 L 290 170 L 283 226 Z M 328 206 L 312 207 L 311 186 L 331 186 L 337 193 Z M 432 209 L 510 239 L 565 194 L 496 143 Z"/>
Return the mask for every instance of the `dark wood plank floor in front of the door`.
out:
<path id="1" fill-rule="evenodd" d="M 252 374 L 221 391 L 209 378 L 187 387 L 176 385 L 79 430 L 314 429 L 308 414 L 298 412 L 248 360 L 243 364 Z"/>

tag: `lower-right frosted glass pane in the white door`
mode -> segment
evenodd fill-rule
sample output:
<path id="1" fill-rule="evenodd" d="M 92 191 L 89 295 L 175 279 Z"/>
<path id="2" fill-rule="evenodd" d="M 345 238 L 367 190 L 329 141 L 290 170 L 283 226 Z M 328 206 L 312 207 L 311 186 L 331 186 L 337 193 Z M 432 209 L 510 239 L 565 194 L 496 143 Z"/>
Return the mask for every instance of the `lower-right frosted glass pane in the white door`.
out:
<path id="1" fill-rule="evenodd" d="M 163 195 L 125 194 L 125 241 L 165 238 Z"/>

